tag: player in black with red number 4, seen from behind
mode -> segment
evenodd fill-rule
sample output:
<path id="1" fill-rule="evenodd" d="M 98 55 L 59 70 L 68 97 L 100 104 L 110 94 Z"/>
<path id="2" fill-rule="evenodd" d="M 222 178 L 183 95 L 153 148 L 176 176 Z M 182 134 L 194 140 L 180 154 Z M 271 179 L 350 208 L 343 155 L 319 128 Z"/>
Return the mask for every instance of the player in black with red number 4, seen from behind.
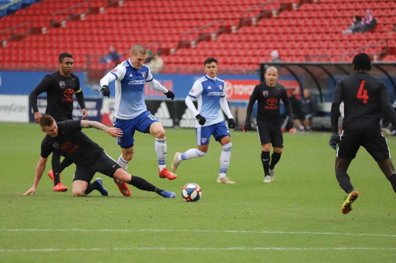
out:
<path id="1" fill-rule="evenodd" d="M 350 182 L 347 169 L 360 146 L 377 161 L 396 192 L 396 172 L 380 126 L 381 113 L 384 113 L 393 125 L 396 124 L 396 113 L 384 82 L 368 74 L 371 70 L 370 57 L 366 53 L 357 54 L 352 64 L 355 73 L 338 81 L 331 107 L 333 133 L 329 144 L 337 150 L 336 178 L 340 187 L 348 194 L 341 209 L 343 214 L 352 210 L 352 202 L 359 196 Z M 340 138 L 338 118 L 342 101 L 345 116 Z"/>

